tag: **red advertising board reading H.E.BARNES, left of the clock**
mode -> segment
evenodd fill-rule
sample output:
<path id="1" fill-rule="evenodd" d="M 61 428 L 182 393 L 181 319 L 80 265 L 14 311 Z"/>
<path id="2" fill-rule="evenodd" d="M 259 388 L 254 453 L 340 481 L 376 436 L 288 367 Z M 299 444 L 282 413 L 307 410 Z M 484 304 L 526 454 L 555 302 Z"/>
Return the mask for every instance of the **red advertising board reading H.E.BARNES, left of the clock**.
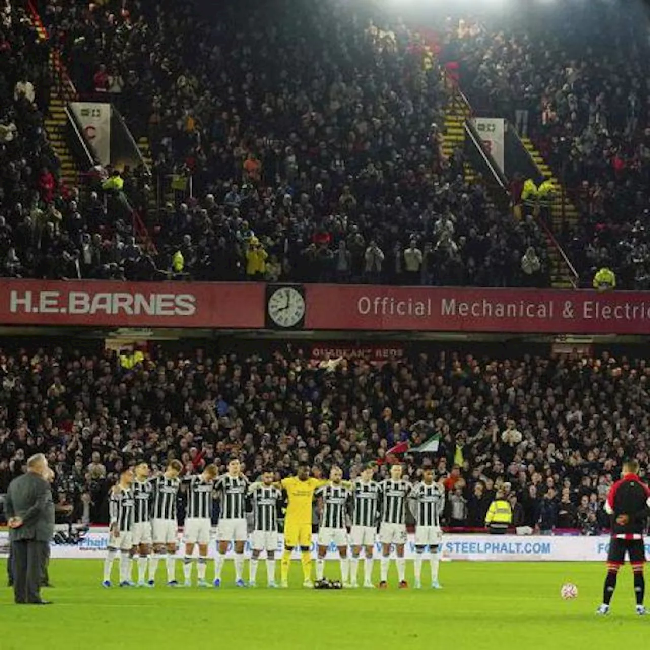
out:
<path id="1" fill-rule="evenodd" d="M 264 285 L 3 279 L 0 323 L 263 328 Z"/>

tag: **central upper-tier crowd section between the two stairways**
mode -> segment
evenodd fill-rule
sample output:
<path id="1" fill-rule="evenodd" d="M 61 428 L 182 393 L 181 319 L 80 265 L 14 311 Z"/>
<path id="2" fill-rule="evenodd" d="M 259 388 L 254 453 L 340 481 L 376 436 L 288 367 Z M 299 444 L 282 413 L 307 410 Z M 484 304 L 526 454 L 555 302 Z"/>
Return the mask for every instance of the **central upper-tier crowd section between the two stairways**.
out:
<path id="1" fill-rule="evenodd" d="M 159 255 L 128 228 L 95 236 L 75 205 L 81 276 L 547 285 L 536 224 L 441 155 L 447 90 L 400 21 L 339 2 L 229 3 L 209 21 L 167 1 L 39 8 L 79 92 L 117 103 L 154 176 L 191 174 L 197 197 L 149 215 Z"/>

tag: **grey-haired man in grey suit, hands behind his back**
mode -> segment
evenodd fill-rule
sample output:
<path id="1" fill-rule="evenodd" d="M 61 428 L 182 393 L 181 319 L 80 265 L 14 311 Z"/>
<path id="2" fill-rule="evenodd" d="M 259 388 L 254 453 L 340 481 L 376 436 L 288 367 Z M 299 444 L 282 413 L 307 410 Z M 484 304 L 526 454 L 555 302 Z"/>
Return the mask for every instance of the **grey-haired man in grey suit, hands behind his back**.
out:
<path id="1" fill-rule="evenodd" d="M 14 478 L 6 493 L 14 601 L 18 604 L 49 604 L 40 597 L 55 517 L 47 476 L 47 459 L 43 454 L 35 454 L 27 460 L 27 472 Z"/>

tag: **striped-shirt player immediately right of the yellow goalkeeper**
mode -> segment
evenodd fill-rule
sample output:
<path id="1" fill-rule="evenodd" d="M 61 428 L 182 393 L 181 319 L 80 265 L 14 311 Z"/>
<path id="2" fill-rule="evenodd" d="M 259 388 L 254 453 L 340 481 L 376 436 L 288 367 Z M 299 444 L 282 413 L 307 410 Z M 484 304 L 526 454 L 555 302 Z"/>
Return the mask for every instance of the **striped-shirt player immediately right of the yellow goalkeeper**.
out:
<path id="1" fill-rule="evenodd" d="M 320 582 L 325 573 L 325 556 L 333 543 L 339 549 L 341 563 L 341 583 L 348 585 L 350 564 L 348 561 L 348 532 L 345 528 L 345 509 L 350 490 L 343 484 L 343 470 L 332 467 L 330 482 L 318 487 L 314 496 L 322 501 L 322 515 L 318 530 L 318 559 L 316 560 L 316 579 Z"/>

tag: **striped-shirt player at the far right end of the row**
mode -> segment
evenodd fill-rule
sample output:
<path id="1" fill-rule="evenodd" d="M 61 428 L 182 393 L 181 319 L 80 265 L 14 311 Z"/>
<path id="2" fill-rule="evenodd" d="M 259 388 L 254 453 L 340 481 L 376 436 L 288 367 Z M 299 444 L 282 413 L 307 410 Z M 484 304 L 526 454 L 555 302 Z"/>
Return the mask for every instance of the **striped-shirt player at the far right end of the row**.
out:
<path id="1" fill-rule="evenodd" d="M 424 549 L 429 547 L 431 564 L 431 586 L 440 589 L 438 572 L 440 556 L 438 549 L 442 543 L 443 529 L 440 517 L 445 509 L 445 487 L 434 482 L 434 471 L 431 467 L 424 468 L 422 482 L 413 487 L 411 499 L 415 505 L 415 588 L 422 588 L 422 556 Z"/>

